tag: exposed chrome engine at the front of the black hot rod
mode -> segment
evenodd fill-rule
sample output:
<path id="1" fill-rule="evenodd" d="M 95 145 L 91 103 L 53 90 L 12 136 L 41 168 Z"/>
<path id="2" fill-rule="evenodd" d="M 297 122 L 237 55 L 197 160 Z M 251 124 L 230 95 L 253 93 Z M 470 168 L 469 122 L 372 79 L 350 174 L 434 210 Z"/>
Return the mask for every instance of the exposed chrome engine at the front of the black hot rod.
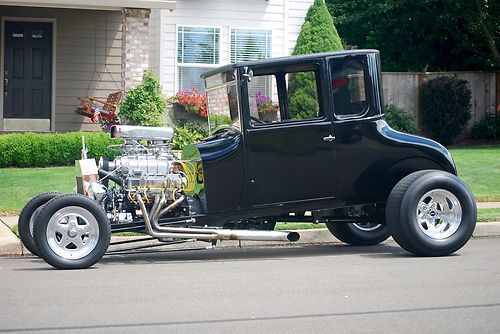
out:
<path id="1" fill-rule="evenodd" d="M 119 155 L 114 160 L 101 158 L 99 176 L 102 191 L 94 184 L 90 192 L 101 202 L 108 216 L 115 222 L 130 222 L 138 209 L 140 194 L 147 206 L 160 197 L 173 202 L 190 184 L 182 162 L 174 157 L 169 141 L 173 137 L 171 128 L 138 126 L 115 126 L 111 136 L 121 138 Z M 120 187 L 107 187 L 106 179 Z"/>

